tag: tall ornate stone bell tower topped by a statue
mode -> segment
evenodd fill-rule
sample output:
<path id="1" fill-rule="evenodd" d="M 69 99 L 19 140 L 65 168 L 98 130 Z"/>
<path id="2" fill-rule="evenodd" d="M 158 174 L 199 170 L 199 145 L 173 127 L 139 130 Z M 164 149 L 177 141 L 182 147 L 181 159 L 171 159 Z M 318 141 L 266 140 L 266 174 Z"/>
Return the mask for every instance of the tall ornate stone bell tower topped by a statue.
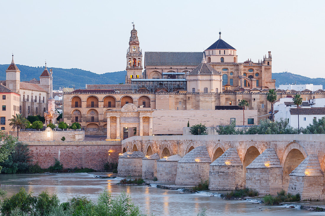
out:
<path id="1" fill-rule="evenodd" d="M 129 41 L 129 49 L 126 53 L 126 76 L 125 84 L 131 84 L 131 79 L 142 78 L 142 50 L 139 47 L 139 39 L 137 31 L 134 28 L 131 30 Z"/>

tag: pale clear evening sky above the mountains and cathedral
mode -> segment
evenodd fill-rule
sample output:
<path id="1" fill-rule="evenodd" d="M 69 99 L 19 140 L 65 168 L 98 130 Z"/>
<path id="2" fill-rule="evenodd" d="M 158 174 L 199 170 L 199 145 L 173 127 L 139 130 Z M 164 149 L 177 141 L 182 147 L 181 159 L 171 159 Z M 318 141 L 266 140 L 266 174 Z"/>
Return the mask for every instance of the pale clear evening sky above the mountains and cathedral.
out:
<path id="1" fill-rule="evenodd" d="M 0 1 L 0 64 L 125 70 L 135 23 L 145 51 L 202 52 L 219 38 L 238 62 L 324 78 L 325 1 Z"/>

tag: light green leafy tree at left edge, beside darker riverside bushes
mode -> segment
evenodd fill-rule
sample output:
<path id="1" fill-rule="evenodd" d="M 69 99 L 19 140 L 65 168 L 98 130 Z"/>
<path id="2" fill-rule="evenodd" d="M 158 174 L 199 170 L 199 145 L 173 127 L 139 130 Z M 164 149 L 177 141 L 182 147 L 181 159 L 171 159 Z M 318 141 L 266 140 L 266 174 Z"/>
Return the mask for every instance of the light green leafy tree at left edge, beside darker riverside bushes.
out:
<path id="1" fill-rule="evenodd" d="M 0 131 L 0 140 L 3 140 L 1 143 L 0 148 L 0 162 L 4 162 L 8 159 L 8 156 L 11 152 L 15 149 L 15 144 L 18 138 L 13 137 L 11 135 L 6 135 L 5 132 Z M 0 173 L 1 173 L 2 166 L 0 166 Z"/>

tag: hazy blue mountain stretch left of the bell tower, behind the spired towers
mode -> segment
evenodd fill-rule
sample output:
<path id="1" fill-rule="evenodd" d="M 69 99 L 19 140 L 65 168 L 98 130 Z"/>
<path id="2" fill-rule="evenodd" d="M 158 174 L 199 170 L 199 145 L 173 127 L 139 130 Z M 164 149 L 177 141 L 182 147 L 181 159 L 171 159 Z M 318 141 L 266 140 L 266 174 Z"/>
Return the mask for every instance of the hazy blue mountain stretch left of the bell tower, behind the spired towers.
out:
<path id="1" fill-rule="evenodd" d="M 6 69 L 9 65 L 0 65 L 0 80 L 6 80 Z M 20 70 L 20 81 L 29 81 L 32 78 L 39 80 L 39 76 L 44 71 L 43 67 L 31 67 L 17 65 Z M 53 89 L 59 87 L 85 88 L 85 84 L 118 84 L 125 82 L 126 71 L 117 71 L 104 74 L 96 74 L 90 71 L 71 68 L 63 69 L 50 67 L 53 69 Z"/>

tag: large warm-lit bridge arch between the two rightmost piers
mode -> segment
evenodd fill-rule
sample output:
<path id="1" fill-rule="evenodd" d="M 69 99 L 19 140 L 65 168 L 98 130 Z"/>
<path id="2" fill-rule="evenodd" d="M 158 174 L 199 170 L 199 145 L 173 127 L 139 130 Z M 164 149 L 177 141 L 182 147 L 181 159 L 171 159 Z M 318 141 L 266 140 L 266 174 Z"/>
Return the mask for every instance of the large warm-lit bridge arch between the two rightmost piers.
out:
<path id="1" fill-rule="evenodd" d="M 294 170 L 305 158 L 307 151 L 299 143 L 289 143 L 281 158 L 281 165 L 283 169 L 282 184 L 283 189 L 288 190 L 289 174 Z"/>

